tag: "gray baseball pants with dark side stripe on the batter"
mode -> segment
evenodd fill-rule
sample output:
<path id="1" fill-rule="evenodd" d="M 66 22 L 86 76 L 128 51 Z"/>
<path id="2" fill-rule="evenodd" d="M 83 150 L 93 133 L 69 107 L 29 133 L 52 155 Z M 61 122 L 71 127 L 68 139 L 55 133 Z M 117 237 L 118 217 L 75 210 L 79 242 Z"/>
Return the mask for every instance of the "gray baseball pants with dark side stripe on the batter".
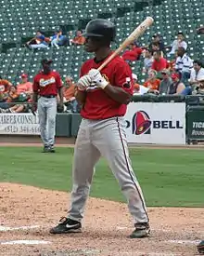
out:
<path id="1" fill-rule="evenodd" d="M 74 150 L 68 217 L 82 221 L 95 165 L 100 156 L 107 159 L 109 168 L 119 182 L 134 223 L 148 222 L 145 199 L 129 157 L 123 117 L 82 120 Z"/>

